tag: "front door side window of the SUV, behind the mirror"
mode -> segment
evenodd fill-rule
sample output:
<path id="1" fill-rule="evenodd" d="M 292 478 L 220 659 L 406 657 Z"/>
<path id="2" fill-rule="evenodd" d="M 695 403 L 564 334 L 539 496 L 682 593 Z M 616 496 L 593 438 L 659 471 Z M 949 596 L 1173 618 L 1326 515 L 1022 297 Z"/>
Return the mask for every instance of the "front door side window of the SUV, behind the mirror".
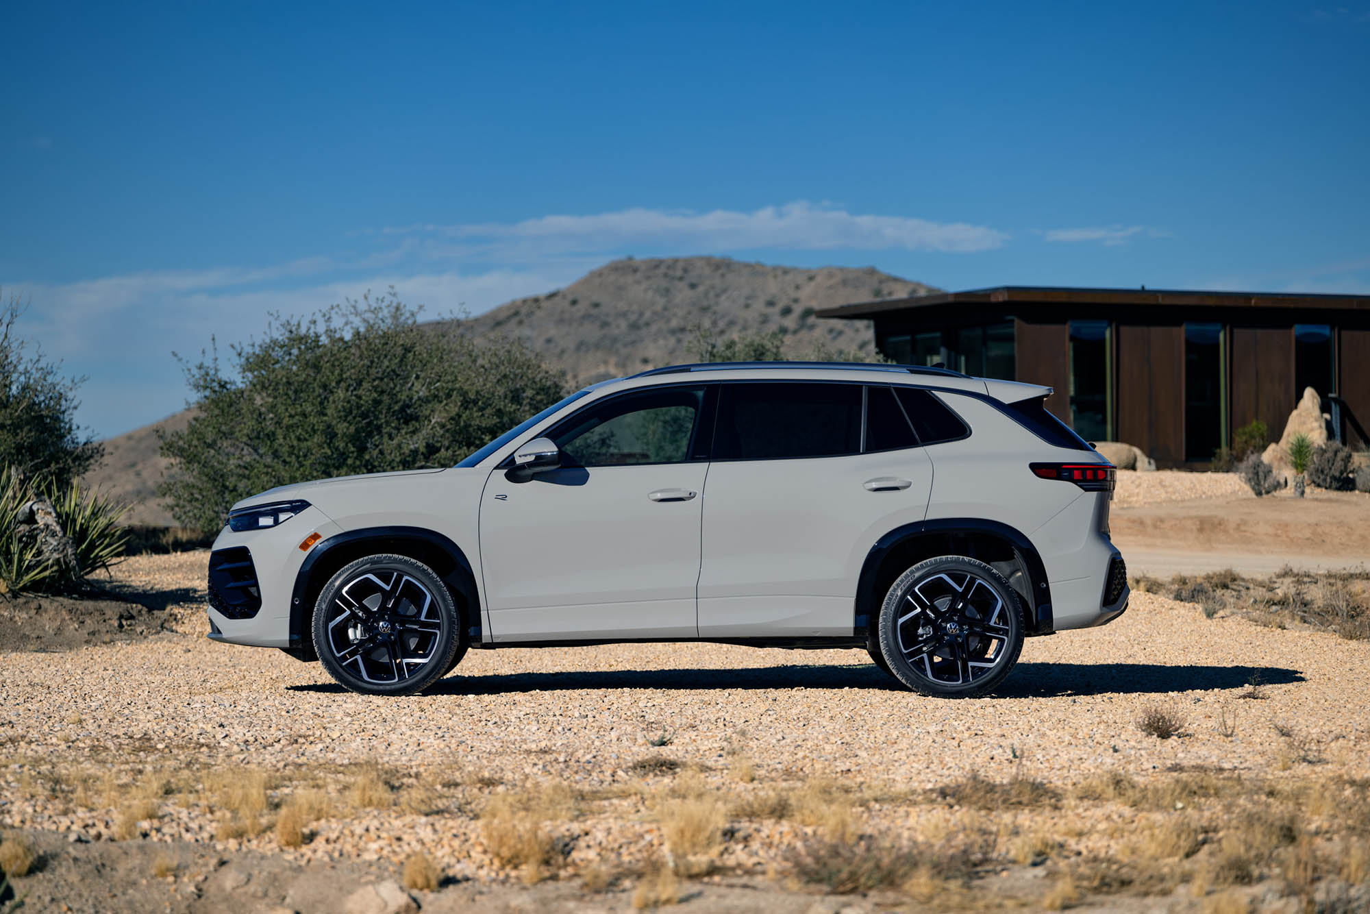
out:
<path id="1" fill-rule="evenodd" d="M 552 429 L 564 466 L 682 463 L 704 388 L 625 393 L 596 403 Z"/>

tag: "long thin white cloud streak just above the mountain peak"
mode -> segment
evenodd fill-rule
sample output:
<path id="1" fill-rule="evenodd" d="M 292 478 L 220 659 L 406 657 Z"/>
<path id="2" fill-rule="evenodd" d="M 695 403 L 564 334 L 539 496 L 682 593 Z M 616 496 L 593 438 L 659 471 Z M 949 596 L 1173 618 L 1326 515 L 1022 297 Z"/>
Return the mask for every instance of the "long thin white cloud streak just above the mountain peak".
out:
<path id="1" fill-rule="evenodd" d="M 447 248 L 449 254 L 515 258 L 633 247 L 662 247 L 682 254 L 758 248 L 970 254 L 1001 247 L 1008 240 L 1006 233 L 981 225 L 854 214 L 804 200 L 752 212 L 637 207 L 593 215 L 548 215 L 523 222 L 392 226 L 381 232 L 464 243 Z"/>

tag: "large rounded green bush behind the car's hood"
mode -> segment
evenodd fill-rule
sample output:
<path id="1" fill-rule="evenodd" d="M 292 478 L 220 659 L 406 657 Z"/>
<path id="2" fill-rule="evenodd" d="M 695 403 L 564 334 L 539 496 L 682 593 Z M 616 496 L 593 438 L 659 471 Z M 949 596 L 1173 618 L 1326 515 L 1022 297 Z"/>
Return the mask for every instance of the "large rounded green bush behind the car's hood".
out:
<path id="1" fill-rule="evenodd" d="M 523 345 L 418 323 L 395 291 L 186 365 L 199 415 L 162 441 L 160 486 L 186 526 L 216 530 L 234 502 L 277 485 L 452 466 L 563 395 Z"/>

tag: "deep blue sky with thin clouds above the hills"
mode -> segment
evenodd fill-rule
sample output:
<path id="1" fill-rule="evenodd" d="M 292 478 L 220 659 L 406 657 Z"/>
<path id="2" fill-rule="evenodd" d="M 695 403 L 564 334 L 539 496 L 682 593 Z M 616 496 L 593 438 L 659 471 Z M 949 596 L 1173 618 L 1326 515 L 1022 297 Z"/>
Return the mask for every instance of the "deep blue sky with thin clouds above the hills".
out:
<path id="1" fill-rule="evenodd" d="M 0 286 L 116 434 L 393 284 L 623 255 L 1370 292 L 1370 1 L 0 7 Z"/>

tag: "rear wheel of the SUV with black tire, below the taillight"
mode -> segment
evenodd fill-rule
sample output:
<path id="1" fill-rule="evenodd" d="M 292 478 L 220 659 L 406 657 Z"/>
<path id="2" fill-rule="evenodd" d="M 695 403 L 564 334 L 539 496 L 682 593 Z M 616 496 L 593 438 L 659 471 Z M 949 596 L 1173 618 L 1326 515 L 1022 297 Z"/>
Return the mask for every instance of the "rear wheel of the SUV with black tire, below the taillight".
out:
<path id="1" fill-rule="evenodd" d="M 880 608 L 880 650 L 900 682 L 936 697 L 995 689 L 1023 648 L 1018 592 L 977 559 L 945 555 L 899 576 Z"/>

